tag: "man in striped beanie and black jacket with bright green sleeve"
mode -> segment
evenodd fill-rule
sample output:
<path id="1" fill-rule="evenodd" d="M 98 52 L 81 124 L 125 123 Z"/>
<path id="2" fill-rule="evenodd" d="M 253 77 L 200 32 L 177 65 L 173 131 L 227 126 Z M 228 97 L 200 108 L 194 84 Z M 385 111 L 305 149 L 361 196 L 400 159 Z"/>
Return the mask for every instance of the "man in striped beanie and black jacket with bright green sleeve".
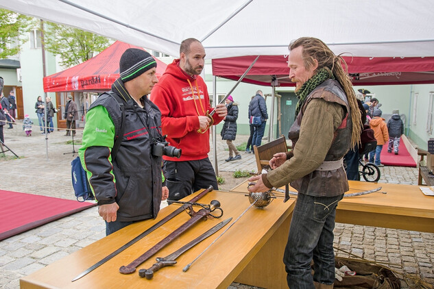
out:
<path id="1" fill-rule="evenodd" d="M 110 95 L 99 96 L 86 114 L 78 153 L 107 235 L 156 218 L 169 194 L 163 184 L 161 155 L 152 151 L 154 140 L 162 137 L 160 110 L 147 98 L 158 82 L 156 66 L 143 49 L 125 50 L 119 61 L 120 78 L 112 84 Z M 121 123 L 121 145 L 113 159 L 114 136 Z"/>

